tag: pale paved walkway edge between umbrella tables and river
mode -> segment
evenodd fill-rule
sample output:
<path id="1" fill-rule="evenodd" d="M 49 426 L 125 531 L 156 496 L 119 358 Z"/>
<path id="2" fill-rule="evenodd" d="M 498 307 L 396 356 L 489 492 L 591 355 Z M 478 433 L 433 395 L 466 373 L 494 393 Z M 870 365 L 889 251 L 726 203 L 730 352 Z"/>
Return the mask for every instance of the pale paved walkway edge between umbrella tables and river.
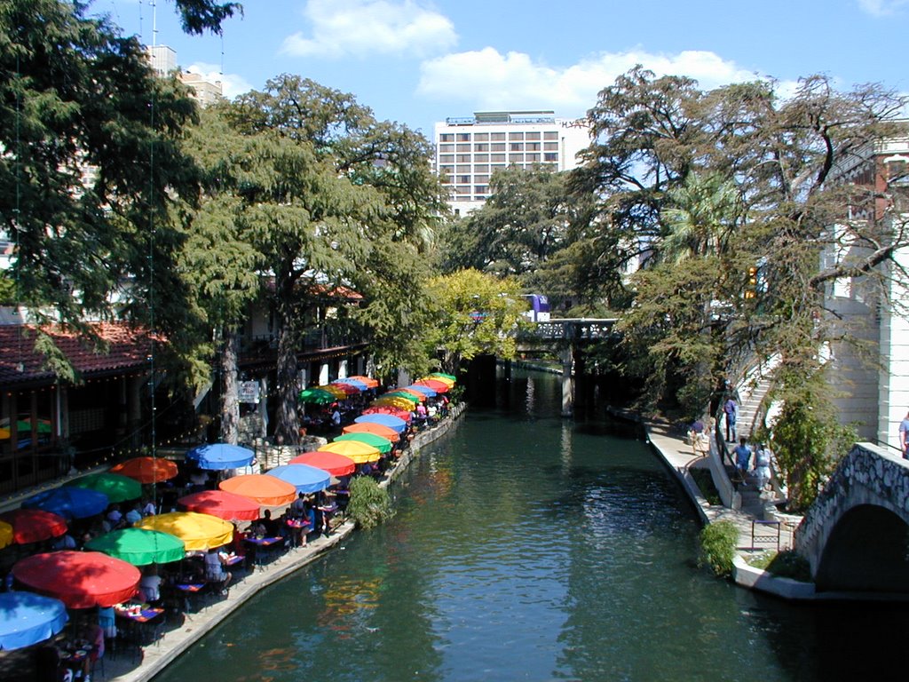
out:
<path id="1" fill-rule="evenodd" d="M 400 476 L 410 462 L 420 455 L 423 446 L 444 436 L 463 414 L 464 403 L 453 406 L 449 415 L 436 426 L 427 428 L 415 435 L 393 468 L 385 472 L 379 486 L 388 486 Z M 345 520 L 335 527 L 328 537 L 319 536 L 306 543 L 305 547 L 288 549 L 284 554 L 275 557 L 265 567 L 250 567 L 242 577 L 235 577 L 227 597 L 218 601 L 205 603 L 193 612 L 179 614 L 165 622 L 164 631 L 153 644 L 145 647 L 129 647 L 108 650 L 95 667 L 95 682 L 111 680 L 112 682 L 146 682 L 160 673 L 175 657 L 180 656 L 199 639 L 217 627 L 225 617 L 233 614 L 238 608 L 263 588 L 274 584 L 307 564 L 315 561 L 333 547 L 342 545 L 355 531 L 353 521 Z M 167 617 L 171 617 L 170 614 Z M 32 682 L 35 680 L 35 652 L 33 647 L 0 651 L 0 679 L 4 682 Z"/>

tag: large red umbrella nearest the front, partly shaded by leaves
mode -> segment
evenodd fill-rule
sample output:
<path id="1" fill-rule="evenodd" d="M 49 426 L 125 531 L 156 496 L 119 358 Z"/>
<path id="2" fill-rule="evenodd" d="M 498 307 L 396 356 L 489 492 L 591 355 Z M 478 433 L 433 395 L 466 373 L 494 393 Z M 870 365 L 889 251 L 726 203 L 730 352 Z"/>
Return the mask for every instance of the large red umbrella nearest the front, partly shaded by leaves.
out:
<path id="1" fill-rule="evenodd" d="M 142 574 L 122 559 L 101 552 L 47 552 L 15 563 L 13 576 L 69 608 L 113 607 L 135 595 Z"/>

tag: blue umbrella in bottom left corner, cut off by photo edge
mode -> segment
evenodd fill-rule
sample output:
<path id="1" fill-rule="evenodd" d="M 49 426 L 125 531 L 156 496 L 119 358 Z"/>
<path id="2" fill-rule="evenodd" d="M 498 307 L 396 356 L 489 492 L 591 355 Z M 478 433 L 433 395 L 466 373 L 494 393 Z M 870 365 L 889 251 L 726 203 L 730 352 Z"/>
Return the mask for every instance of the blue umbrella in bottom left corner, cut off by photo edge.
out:
<path id="1" fill-rule="evenodd" d="M 59 599 L 34 592 L 4 592 L 0 594 L 0 649 L 19 649 L 50 639 L 68 619 Z"/>

